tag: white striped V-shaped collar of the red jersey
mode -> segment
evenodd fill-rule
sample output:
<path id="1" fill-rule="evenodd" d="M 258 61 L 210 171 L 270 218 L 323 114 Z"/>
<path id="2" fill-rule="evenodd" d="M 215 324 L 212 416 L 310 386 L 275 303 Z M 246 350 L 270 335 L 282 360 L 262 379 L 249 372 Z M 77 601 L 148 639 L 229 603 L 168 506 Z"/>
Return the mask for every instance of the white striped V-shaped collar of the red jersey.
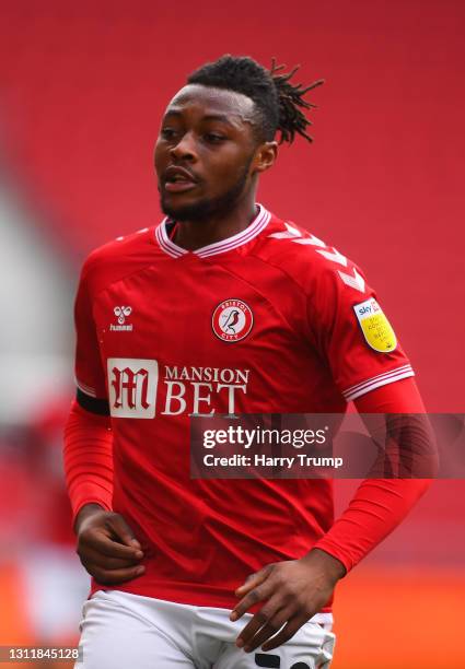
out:
<path id="1" fill-rule="evenodd" d="M 199 256 L 200 258 L 208 258 L 209 256 L 224 254 L 225 251 L 236 248 L 237 246 L 247 244 L 247 242 L 251 242 L 254 237 L 259 235 L 263 230 L 265 230 L 270 218 L 271 214 L 269 211 L 266 210 L 263 204 L 258 204 L 257 215 L 245 230 L 241 231 L 236 235 L 233 235 L 232 237 L 228 237 L 221 242 L 216 242 L 214 244 L 209 244 L 208 246 L 202 246 L 194 251 L 189 251 L 186 248 L 177 246 L 177 244 L 174 244 L 174 242 L 168 238 L 166 223 L 170 222 L 170 219 L 167 218 L 163 219 L 160 225 L 155 228 L 155 238 L 161 249 L 173 258 L 181 258 L 182 256 L 190 253 Z"/>

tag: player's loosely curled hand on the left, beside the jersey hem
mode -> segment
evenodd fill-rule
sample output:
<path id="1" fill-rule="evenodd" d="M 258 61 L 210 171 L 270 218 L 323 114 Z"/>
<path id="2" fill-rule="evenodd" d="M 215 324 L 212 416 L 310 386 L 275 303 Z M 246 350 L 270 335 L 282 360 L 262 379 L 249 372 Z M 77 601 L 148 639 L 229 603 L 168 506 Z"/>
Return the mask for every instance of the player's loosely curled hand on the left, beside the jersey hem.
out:
<path id="1" fill-rule="evenodd" d="M 139 541 L 119 514 L 98 504 L 85 504 L 75 520 L 77 553 L 84 568 L 98 583 L 125 583 L 146 571 Z"/>

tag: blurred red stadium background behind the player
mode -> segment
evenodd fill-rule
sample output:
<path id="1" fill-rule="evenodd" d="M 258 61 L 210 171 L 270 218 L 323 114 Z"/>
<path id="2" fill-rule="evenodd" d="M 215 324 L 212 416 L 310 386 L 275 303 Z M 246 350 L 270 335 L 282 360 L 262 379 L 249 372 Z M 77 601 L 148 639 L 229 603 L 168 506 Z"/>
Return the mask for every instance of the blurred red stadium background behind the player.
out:
<path id="1" fill-rule="evenodd" d="M 66 528 L 69 518 L 56 468 L 72 395 L 79 265 L 96 245 L 160 219 L 152 167 L 160 118 L 186 74 L 206 60 L 233 52 L 269 64 L 276 56 L 288 66 L 302 63 L 302 82 L 326 80 L 313 95 L 315 142 L 281 149 L 278 165 L 263 178 L 260 201 L 365 270 L 417 369 L 428 409 L 465 411 L 465 4 L 1 4 L 3 254 L 25 275 L 40 248 L 40 272 L 56 271 L 40 294 L 39 270 L 27 274 L 21 290 L 5 274 L 3 287 L 11 289 L 4 300 L 10 320 L 30 309 L 37 331 L 55 318 L 60 337 L 54 348 L 59 361 L 46 343 L 27 350 L 27 360 L 40 364 L 33 382 L 27 371 L 20 375 L 26 390 L 16 384 L 14 402 L 10 382 L 1 390 L 11 410 L 0 415 L 0 468 L 13 483 L 0 491 L 0 580 L 9 584 L 0 603 L 0 642 L 12 644 L 44 635 L 21 603 L 30 597 L 22 561 L 45 535 L 55 545 L 72 543 L 66 529 L 54 527 Z M 14 260 L 9 240 L 19 218 L 7 215 L 11 201 L 24 231 Z M 21 255 L 26 247 L 27 258 Z M 59 297 L 49 297 L 58 284 Z M 18 365 L 26 365 L 20 344 L 9 347 L 1 355 L 14 383 Z M 46 444 L 53 444 L 53 458 L 45 455 Z M 353 488 L 354 482 L 338 485 L 338 508 Z M 335 669 L 465 666 L 456 641 L 465 585 L 464 490 L 462 481 L 434 483 L 405 524 L 342 582 Z M 58 507 L 65 509 L 61 519 Z"/>

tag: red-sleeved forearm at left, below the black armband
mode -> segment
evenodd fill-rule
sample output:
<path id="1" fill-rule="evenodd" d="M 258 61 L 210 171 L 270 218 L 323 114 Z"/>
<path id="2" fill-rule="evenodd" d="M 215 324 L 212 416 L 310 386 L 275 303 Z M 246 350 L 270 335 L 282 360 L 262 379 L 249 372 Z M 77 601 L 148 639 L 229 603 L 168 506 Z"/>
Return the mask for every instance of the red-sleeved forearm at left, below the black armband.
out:
<path id="1" fill-rule="evenodd" d="M 63 460 L 73 525 L 86 504 L 97 504 L 109 510 L 113 436 L 108 419 L 93 415 L 74 402 L 65 427 Z"/>

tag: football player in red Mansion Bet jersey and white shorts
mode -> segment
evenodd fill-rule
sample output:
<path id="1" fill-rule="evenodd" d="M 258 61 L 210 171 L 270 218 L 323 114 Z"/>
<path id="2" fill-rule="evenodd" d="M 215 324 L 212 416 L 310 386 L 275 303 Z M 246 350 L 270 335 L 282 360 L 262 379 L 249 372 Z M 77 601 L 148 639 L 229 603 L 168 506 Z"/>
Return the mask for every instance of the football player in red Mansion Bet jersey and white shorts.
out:
<path id="1" fill-rule="evenodd" d="M 336 583 L 427 486 L 367 480 L 334 524 L 329 480 L 190 479 L 190 414 L 423 411 L 361 271 L 256 204 L 322 83 L 280 70 L 224 56 L 188 78 L 155 148 L 166 219 L 83 268 L 65 449 L 93 577 L 80 668 L 327 667 Z"/>

